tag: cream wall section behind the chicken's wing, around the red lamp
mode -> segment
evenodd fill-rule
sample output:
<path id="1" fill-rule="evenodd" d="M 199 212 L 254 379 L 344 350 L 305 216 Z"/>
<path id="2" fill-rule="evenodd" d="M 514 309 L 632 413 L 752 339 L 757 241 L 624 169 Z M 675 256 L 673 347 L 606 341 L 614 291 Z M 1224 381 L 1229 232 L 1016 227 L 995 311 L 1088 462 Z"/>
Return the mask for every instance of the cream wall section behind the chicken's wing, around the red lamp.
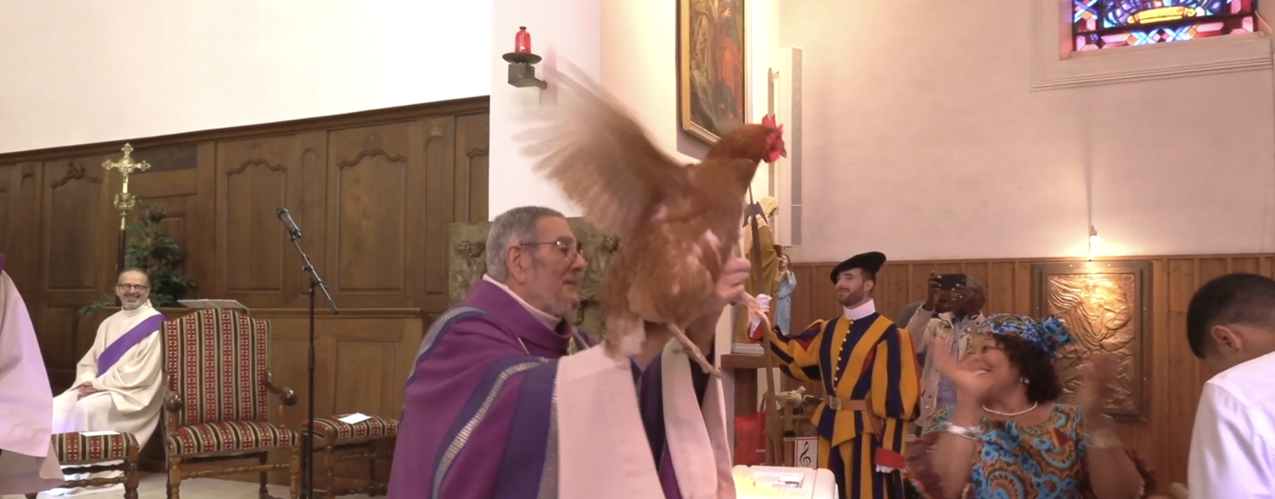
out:
<path id="1" fill-rule="evenodd" d="M 616 96 L 649 131 L 652 139 L 686 161 L 708 152 L 708 145 L 681 131 L 677 111 L 677 6 L 649 0 L 493 0 L 491 56 L 491 184 L 492 217 L 524 204 L 541 204 L 579 216 L 556 186 L 532 172 L 511 140 L 523 129 L 521 108 L 552 105 L 553 70 L 567 59 Z M 779 40 L 778 0 L 750 3 L 752 38 L 751 97 L 754 121 L 766 106 L 766 69 Z M 501 55 L 513 50 L 514 33 L 525 26 L 532 51 L 544 56 L 537 68 L 548 89 L 514 88 L 507 83 L 509 64 Z M 766 194 L 762 165 L 754 181 L 757 197 Z"/>

